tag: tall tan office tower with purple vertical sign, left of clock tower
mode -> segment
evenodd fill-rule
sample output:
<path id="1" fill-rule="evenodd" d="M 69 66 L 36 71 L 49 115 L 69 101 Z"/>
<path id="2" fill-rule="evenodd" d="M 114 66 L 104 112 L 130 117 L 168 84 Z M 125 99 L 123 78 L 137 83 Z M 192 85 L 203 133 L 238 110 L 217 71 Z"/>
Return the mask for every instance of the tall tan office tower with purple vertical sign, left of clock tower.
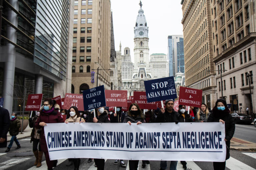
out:
<path id="1" fill-rule="evenodd" d="M 75 0 L 73 37 L 72 92 L 110 89 L 110 1 Z"/>

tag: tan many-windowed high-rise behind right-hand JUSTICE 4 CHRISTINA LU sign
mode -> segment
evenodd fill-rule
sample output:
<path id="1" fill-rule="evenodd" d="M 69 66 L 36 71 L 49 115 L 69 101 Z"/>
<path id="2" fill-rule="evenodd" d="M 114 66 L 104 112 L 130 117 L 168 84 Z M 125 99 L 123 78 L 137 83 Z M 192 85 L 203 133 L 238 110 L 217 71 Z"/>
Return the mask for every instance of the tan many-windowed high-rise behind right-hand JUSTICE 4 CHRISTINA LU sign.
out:
<path id="1" fill-rule="evenodd" d="M 214 1 L 214 0 L 212 0 Z M 186 86 L 203 90 L 203 102 L 216 101 L 213 63 L 211 1 L 182 0 Z"/>

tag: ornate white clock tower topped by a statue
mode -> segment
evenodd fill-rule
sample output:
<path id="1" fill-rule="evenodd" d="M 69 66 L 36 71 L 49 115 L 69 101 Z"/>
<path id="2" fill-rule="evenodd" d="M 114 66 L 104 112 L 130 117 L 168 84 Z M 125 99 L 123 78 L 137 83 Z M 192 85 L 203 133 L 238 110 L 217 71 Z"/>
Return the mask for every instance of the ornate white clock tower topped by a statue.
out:
<path id="1" fill-rule="evenodd" d="M 149 69 L 148 40 L 147 21 L 140 3 L 140 10 L 134 27 L 134 69 L 138 69 L 140 64 L 145 64 L 146 68 Z"/>

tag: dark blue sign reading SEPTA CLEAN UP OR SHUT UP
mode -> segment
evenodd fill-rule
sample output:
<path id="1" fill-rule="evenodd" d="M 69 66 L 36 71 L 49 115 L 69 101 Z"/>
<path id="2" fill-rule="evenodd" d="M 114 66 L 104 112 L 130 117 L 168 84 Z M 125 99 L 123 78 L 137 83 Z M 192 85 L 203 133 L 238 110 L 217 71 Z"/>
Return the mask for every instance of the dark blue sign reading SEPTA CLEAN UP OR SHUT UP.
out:
<path id="1" fill-rule="evenodd" d="M 84 110 L 106 106 L 104 85 L 83 91 Z"/>

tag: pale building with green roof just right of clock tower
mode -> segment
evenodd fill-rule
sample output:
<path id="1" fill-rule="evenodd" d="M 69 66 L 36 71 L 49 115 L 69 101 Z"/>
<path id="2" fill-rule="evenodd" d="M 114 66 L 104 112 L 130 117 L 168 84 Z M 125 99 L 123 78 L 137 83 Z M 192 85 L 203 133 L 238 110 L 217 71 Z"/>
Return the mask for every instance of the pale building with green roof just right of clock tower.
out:
<path id="1" fill-rule="evenodd" d="M 154 53 L 150 55 L 150 69 L 154 79 L 169 76 L 169 64 L 167 55 L 164 53 Z"/>

